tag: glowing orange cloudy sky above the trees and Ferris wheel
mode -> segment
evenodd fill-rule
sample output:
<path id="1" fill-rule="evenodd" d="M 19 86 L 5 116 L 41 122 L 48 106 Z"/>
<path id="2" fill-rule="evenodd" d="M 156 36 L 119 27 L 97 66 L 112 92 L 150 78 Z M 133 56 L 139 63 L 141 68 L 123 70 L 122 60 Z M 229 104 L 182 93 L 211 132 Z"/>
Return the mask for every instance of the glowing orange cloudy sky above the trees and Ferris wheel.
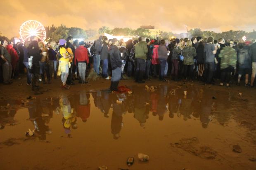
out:
<path id="1" fill-rule="evenodd" d="M 18 36 L 26 20 L 85 30 L 142 25 L 173 33 L 185 32 L 185 25 L 216 32 L 256 29 L 256 0 L 1 0 L 0 6 L 0 32 L 7 37 Z"/>

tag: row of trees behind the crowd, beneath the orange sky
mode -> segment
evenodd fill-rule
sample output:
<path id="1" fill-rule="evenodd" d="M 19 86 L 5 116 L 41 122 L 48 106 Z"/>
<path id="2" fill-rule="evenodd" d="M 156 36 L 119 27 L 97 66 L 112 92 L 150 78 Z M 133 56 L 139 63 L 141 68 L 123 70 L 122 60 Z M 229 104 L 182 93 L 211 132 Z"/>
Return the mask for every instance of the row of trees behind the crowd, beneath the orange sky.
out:
<path id="1" fill-rule="evenodd" d="M 194 28 L 190 29 L 187 31 L 187 33 L 180 33 L 180 34 L 175 34 L 172 32 L 167 32 L 167 31 L 158 31 L 155 33 L 155 35 L 152 35 L 149 31 L 149 29 L 143 29 L 143 28 L 137 28 L 137 29 L 131 29 L 131 28 L 114 28 L 110 29 L 109 27 L 102 26 L 98 30 L 95 29 L 88 29 L 84 30 L 82 28 L 77 28 L 77 27 L 71 27 L 68 28 L 65 25 L 61 26 L 47 26 L 45 27 L 46 30 L 46 36 L 47 36 L 47 41 L 59 41 L 60 39 L 66 39 L 68 36 L 72 36 L 74 38 L 83 38 L 83 39 L 88 39 L 90 37 L 94 37 L 97 34 L 101 33 L 108 33 L 111 35 L 124 35 L 124 36 L 130 36 L 130 35 L 138 35 L 138 36 L 143 36 L 143 37 L 148 37 L 150 39 L 157 38 L 156 35 L 158 36 L 159 39 L 170 39 L 173 37 L 178 37 L 178 38 L 184 38 L 184 37 L 209 37 L 213 36 L 214 39 L 218 38 L 224 38 L 225 40 L 242 40 L 243 36 L 247 37 L 247 40 L 252 40 L 256 39 L 256 31 L 253 30 L 252 32 L 245 32 L 243 30 L 229 30 L 229 31 L 224 31 L 221 33 L 215 33 L 213 31 L 209 30 L 201 30 L 200 28 Z M 9 41 L 9 39 L 5 36 L 3 36 L 0 32 L 0 40 L 6 39 Z M 14 37 L 10 39 L 11 41 L 14 40 Z"/>

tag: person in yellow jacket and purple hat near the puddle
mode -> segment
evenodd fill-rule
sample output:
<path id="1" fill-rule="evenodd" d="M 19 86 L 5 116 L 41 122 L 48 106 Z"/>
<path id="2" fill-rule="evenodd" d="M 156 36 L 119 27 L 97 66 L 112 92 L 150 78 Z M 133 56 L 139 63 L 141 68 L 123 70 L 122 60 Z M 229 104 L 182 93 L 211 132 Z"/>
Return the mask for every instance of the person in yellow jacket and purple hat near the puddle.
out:
<path id="1" fill-rule="evenodd" d="M 62 88 L 63 89 L 69 89 L 69 86 L 66 86 L 66 80 L 69 76 L 69 68 L 70 68 L 70 62 L 71 59 L 70 54 L 68 51 L 66 51 L 66 40 L 61 39 L 59 40 L 59 70 L 58 70 L 58 76 L 61 75 L 62 79 Z"/>

